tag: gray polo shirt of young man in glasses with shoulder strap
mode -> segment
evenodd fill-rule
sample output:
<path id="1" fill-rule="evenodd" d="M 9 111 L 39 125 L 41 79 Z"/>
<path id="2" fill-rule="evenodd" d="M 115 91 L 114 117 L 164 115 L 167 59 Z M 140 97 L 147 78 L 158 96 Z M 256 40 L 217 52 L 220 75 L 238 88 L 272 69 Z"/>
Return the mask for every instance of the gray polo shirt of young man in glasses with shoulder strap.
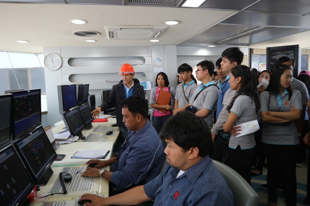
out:
<path id="1" fill-rule="evenodd" d="M 211 81 L 204 86 L 209 86 L 211 84 L 214 84 L 214 81 Z M 202 93 L 200 93 L 195 100 L 196 95 L 201 92 L 202 84 L 197 85 L 190 100 L 189 103 L 192 103 L 194 107 L 197 108 L 197 112 L 202 110 L 202 107 L 210 110 L 209 114 L 204 117 L 203 119 L 207 122 L 210 129 L 212 129 L 213 123 L 214 123 L 214 112 L 217 108 L 217 99 L 219 95 L 218 87 L 217 86 L 210 86 L 208 88 L 203 89 Z M 194 101 L 195 100 L 195 101 Z"/>

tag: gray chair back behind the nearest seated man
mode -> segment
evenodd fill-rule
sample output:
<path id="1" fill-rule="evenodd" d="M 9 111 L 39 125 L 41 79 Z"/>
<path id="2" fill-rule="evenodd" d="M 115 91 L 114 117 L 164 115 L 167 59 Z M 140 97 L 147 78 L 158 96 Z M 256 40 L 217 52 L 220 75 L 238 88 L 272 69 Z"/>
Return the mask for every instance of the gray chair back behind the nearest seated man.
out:
<path id="1" fill-rule="evenodd" d="M 235 206 L 258 206 L 259 197 L 248 182 L 229 166 L 213 161 L 217 170 L 224 177 L 228 187 L 233 191 Z"/>

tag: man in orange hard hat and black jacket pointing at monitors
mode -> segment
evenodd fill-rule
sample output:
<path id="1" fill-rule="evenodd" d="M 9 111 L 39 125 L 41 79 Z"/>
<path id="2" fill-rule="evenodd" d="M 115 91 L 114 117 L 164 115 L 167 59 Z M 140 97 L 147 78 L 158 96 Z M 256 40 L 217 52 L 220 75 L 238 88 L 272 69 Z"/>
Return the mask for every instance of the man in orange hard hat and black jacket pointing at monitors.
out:
<path id="1" fill-rule="evenodd" d="M 134 79 L 135 71 L 130 64 L 124 64 L 121 67 L 119 75 L 122 75 L 122 80 L 117 84 L 113 85 L 110 95 L 106 102 L 101 104 L 97 109 L 93 110 L 93 117 L 98 116 L 102 110 L 115 107 L 116 109 L 116 124 L 120 129 L 120 132 L 125 139 L 127 128 L 123 122 L 122 107 L 120 106 L 122 100 L 130 97 L 134 94 L 140 94 L 145 98 L 144 89 L 140 85 L 138 79 Z"/>

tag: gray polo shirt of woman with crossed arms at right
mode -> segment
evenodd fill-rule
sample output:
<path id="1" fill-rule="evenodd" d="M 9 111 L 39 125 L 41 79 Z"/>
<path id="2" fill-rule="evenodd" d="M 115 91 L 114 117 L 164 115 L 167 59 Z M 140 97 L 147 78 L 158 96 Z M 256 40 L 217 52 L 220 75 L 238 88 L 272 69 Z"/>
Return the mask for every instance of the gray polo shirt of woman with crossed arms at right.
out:
<path id="1" fill-rule="evenodd" d="M 302 110 L 301 95 L 296 89 L 293 90 L 291 100 L 289 100 L 288 91 L 285 89 L 284 94 L 280 97 L 271 94 L 269 103 L 269 92 L 263 91 L 260 95 L 261 109 L 260 112 L 281 111 L 288 112 L 292 105 L 296 109 Z M 264 123 L 262 140 L 266 144 L 275 145 L 298 145 L 298 134 L 294 121 L 284 123 L 284 125 Z"/>

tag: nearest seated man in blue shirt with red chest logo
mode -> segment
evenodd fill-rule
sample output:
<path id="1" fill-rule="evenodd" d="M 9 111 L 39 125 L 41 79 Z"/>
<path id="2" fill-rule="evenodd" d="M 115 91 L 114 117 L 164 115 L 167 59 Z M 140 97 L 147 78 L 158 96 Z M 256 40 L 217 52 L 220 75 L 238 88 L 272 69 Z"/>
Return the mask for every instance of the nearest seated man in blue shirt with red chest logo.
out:
<path id="1" fill-rule="evenodd" d="M 169 118 L 160 131 L 168 146 L 164 171 L 143 186 L 102 198 L 83 194 L 92 205 L 137 205 L 155 199 L 156 206 L 233 206 L 233 192 L 208 153 L 212 148 L 207 122 L 184 111 Z"/>

